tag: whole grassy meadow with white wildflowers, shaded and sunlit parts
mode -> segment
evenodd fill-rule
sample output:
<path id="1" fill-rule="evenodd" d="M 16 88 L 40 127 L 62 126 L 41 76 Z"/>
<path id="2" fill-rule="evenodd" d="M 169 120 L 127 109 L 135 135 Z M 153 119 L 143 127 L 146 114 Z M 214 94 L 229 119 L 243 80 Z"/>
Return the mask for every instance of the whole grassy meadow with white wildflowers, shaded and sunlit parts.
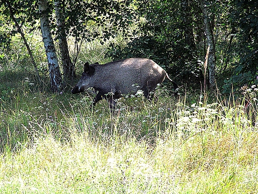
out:
<path id="1" fill-rule="evenodd" d="M 112 114 L 71 85 L 40 90 L 17 66 L 0 68 L 1 194 L 258 193 L 258 86 L 160 86 L 156 102 L 125 96 Z"/>

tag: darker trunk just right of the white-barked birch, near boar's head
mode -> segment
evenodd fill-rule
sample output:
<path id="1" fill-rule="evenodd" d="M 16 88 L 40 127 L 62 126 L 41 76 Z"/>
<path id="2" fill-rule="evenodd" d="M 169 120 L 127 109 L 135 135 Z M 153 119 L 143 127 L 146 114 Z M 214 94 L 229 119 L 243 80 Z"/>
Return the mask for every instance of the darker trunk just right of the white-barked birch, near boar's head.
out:
<path id="1" fill-rule="evenodd" d="M 62 57 L 63 69 L 64 69 L 64 81 L 73 80 L 75 77 L 74 65 L 71 63 L 71 59 L 68 51 L 68 44 L 65 33 L 65 19 L 64 19 L 64 8 L 61 7 L 60 0 L 55 0 L 56 19 L 58 27 L 58 40 L 59 48 Z M 64 6 L 63 6 L 64 7 Z"/>

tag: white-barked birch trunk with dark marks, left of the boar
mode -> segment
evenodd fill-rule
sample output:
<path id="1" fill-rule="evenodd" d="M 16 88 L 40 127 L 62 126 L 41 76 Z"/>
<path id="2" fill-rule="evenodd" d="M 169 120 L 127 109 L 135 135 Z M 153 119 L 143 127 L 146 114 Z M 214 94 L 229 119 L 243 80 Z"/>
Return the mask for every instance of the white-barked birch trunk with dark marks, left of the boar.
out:
<path id="1" fill-rule="evenodd" d="M 47 12 L 47 0 L 39 0 L 39 13 L 40 27 L 48 59 L 51 90 L 52 92 L 60 92 L 62 90 L 63 84 L 56 55 L 56 49 L 50 32 L 49 18 Z"/>

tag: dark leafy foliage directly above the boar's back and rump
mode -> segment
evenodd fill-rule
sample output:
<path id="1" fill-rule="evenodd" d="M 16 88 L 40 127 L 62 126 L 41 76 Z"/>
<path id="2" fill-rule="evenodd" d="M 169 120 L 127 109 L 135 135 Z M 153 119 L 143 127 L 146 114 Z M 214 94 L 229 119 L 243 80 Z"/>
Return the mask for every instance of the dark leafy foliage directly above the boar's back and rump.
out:
<path id="1" fill-rule="evenodd" d="M 114 59 L 151 58 L 162 67 L 166 67 L 166 70 L 173 76 L 178 76 L 181 81 L 183 79 L 183 82 L 191 80 L 192 73 L 199 77 L 198 59 L 202 56 L 196 55 L 195 48 L 193 48 L 195 45 L 188 45 L 185 41 L 186 24 L 181 1 L 140 0 L 138 6 L 142 22 L 139 23 L 137 30 L 133 31 L 126 47 L 111 45 L 110 56 Z M 198 6 L 195 8 L 199 9 Z M 194 22 L 196 25 L 200 21 L 196 18 Z M 189 25 L 193 25 L 193 22 Z M 202 43 L 203 40 L 200 44 Z"/>

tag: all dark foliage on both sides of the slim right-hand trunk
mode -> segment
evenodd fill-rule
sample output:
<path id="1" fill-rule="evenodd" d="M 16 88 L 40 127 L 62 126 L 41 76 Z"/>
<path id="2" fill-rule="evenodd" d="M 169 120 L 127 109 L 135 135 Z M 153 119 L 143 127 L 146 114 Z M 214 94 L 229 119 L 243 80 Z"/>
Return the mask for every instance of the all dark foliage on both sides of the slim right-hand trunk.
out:
<path id="1" fill-rule="evenodd" d="M 186 1 L 139 2 L 144 21 L 138 33 L 131 36 L 126 47 L 111 45 L 110 56 L 152 58 L 183 83 L 202 81 L 207 45 L 199 1 L 187 1 L 191 16 L 188 18 L 183 4 Z M 245 84 L 256 84 L 257 2 L 210 1 L 208 6 L 216 46 L 218 87 L 223 86 L 221 91 L 230 93 L 232 84 L 234 91 Z M 189 26 L 193 28 L 194 43 L 186 39 Z"/>

